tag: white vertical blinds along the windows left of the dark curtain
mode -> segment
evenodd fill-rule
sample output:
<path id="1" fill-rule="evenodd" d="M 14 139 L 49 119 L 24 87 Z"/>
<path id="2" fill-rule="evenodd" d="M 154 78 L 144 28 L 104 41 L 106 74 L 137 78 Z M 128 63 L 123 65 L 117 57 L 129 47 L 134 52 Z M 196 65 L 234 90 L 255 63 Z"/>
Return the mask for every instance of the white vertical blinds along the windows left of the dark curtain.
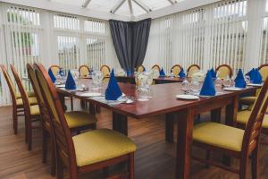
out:
<path id="1" fill-rule="evenodd" d="M 99 69 L 102 64 L 118 67 L 107 21 L 77 15 L 52 13 L 14 4 L 0 4 L 0 64 L 10 64 L 22 77 L 26 64 L 40 62 L 77 69 L 81 64 Z M 28 81 L 23 81 L 30 90 Z M 11 98 L 0 72 L 0 106 Z"/>

